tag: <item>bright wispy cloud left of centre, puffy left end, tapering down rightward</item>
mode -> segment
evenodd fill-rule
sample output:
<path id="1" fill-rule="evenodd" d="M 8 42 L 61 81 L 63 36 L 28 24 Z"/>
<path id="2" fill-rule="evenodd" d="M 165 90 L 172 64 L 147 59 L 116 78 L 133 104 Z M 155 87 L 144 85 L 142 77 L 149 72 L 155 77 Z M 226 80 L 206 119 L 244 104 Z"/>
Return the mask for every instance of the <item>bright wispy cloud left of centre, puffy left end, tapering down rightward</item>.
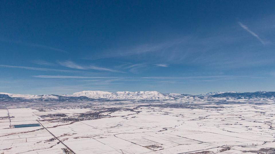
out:
<path id="1" fill-rule="evenodd" d="M 80 69 L 80 70 L 99 70 L 99 71 L 109 71 L 109 72 L 118 72 L 118 73 L 125 73 L 123 71 L 119 71 L 119 70 L 113 70 L 110 68 L 103 68 L 103 67 L 97 67 L 97 66 L 81 66 L 78 65 L 72 61 L 65 61 L 65 62 L 59 62 L 60 65 L 68 67 L 68 68 L 75 68 L 75 69 Z"/>

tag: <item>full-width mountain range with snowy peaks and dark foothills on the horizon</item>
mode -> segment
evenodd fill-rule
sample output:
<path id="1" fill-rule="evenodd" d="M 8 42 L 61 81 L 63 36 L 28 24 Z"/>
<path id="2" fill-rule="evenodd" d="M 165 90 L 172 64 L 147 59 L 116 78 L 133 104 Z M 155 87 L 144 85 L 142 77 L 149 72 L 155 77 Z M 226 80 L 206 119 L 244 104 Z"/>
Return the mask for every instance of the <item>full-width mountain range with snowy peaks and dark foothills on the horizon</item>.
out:
<path id="1" fill-rule="evenodd" d="M 157 91 L 140 92 L 103 92 L 82 91 L 68 95 L 28 95 L 0 93 L 1 101 L 175 101 L 175 102 L 243 102 L 243 101 L 275 101 L 275 92 L 209 92 L 200 95 L 163 94 Z"/>

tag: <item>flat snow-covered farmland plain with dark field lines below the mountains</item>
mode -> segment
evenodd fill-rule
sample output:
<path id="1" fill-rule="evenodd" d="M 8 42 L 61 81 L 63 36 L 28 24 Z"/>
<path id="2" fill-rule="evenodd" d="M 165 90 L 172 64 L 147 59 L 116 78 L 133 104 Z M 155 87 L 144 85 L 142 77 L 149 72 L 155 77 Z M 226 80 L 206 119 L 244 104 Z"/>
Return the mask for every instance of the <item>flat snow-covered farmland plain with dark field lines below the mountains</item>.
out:
<path id="1" fill-rule="evenodd" d="M 275 153 L 275 105 L 98 103 L 0 109 L 0 153 Z M 19 124 L 38 127 L 13 128 Z"/>

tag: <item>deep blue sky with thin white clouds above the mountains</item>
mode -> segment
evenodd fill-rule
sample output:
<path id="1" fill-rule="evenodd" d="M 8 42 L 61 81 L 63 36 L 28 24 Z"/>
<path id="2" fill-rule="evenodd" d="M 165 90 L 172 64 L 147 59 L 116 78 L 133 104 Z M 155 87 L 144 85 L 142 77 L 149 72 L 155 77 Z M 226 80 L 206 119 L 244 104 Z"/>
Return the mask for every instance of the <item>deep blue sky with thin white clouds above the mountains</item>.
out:
<path id="1" fill-rule="evenodd" d="M 0 92 L 275 91 L 274 1 L 1 1 Z"/>

